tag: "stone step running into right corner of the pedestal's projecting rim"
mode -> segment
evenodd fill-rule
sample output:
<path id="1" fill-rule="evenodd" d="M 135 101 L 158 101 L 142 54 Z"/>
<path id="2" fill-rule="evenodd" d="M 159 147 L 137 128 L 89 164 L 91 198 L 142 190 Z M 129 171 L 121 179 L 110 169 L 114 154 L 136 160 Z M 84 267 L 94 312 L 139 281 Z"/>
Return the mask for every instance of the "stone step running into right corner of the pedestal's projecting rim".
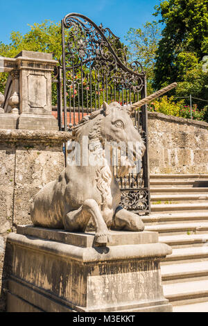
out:
<path id="1" fill-rule="evenodd" d="M 161 262 L 161 265 L 168 264 L 183 264 L 195 261 L 208 260 L 208 246 L 188 247 L 188 248 L 173 248 L 173 253 L 166 256 Z"/>

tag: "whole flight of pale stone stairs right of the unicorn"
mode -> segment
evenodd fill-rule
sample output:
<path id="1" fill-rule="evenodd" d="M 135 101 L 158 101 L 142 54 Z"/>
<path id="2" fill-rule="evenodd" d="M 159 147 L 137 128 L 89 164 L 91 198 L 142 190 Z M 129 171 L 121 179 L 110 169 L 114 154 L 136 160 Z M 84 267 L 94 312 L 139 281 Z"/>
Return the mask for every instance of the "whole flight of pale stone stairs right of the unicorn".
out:
<path id="1" fill-rule="evenodd" d="M 208 312 L 208 175 L 150 175 L 146 230 L 173 248 L 161 264 L 173 311 Z"/>

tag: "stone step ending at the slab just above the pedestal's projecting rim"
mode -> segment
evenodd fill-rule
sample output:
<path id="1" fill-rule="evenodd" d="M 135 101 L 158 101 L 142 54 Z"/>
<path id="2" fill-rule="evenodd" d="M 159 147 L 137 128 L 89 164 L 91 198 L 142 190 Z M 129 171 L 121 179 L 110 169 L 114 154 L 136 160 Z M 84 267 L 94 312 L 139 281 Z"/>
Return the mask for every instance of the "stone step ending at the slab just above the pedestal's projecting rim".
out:
<path id="1" fill-rule="evenodd" d="M 205 246 L 208 234 L 177 234 L 160 236 L 159 242 L 166 243 L 172 248 L 187 248 L 187 246 Z"/>

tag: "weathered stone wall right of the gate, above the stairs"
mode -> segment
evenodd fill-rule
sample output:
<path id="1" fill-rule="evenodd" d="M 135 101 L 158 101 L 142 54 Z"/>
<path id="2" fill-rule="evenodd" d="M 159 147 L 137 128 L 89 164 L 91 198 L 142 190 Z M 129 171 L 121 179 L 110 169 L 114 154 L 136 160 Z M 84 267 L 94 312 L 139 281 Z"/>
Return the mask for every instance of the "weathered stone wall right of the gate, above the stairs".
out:
<path id="1" fill-rule="evenodd" d="M 208 173 L 208 123 L 148 112 L 150 173 Z"/>

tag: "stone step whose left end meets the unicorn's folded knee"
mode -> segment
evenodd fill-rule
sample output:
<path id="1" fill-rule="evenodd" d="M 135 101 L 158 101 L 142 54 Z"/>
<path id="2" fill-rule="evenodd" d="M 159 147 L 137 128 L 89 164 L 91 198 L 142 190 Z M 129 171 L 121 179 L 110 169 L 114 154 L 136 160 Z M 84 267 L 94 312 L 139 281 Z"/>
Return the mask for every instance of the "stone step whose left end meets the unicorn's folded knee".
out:
<path id="1" fill-rule="evenodd" d="M 179 224 L 158 224 L 158 225 L 146 225 L 146 231 L 159 232 L 159 234 L 170 235 L 170 234 L 205 234 L 208 233 L 207 222 L 190 222 L 190 223 L 179 223 Z"/>

